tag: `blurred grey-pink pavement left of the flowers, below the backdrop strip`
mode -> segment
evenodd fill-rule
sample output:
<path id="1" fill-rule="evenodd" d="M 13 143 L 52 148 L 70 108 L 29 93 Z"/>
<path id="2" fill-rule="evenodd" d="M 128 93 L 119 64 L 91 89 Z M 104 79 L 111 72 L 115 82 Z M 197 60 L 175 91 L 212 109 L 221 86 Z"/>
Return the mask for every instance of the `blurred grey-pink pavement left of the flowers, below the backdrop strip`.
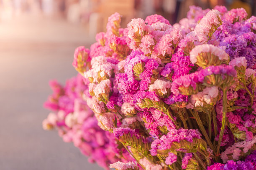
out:
<path id="1" fill-rule="evenodd" d="M 41 126 L 48 81 L 76 75 L 74 49 L 92 42 L 85 27 L 64 20 L 0 23 L 0 170 L 102 170 Z"/>

